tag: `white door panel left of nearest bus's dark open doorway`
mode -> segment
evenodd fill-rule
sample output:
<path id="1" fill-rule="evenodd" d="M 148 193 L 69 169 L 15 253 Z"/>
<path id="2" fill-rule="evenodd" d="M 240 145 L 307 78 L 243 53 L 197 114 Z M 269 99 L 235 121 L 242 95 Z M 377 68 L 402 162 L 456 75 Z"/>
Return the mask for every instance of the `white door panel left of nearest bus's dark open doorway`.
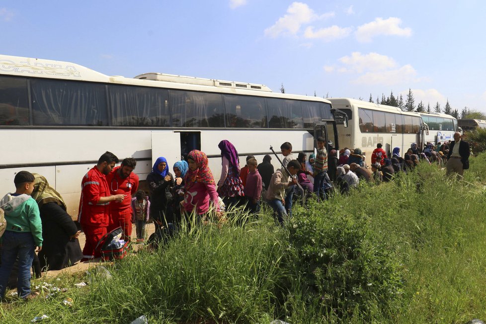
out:
<path id="1" fill-rule="evenodd" d="M 164 157 L 167 164 L 173 165 L 180 160 L 180 134 L 173 132 L 152 132 L 152 165 Z"/>

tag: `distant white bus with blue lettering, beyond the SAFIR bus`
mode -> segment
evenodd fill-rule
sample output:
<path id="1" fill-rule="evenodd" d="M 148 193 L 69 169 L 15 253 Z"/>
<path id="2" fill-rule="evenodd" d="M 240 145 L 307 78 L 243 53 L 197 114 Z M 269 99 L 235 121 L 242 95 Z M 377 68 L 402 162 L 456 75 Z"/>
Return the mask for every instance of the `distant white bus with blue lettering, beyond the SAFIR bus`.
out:
<path id="1" fill-rule="evenodd" d="M 437 144 L 453 141 L 454 133 L 459 131 L 457 119 L 451 115 L 438 112 L 420 112 L 422 121 L 428 126 L 428 135 L 425 133 L 425 143 Z"/>

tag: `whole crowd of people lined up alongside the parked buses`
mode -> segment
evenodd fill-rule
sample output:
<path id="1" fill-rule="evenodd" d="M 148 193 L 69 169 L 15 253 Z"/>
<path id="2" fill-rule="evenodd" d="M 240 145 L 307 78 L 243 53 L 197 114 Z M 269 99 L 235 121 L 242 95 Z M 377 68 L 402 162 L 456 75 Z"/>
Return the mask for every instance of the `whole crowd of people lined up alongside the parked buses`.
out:
<path id="1" fill-rule="evenodd" d="M 391 158 L 382 144 L 377 144 L 370 168 L 359 148 L 345 148 L 338 156 L 336 149 L 328 147 L 327 153 L 325 146 L 324 138 L 319 137 L 315 155 L 307 159 L 301 152 L 296 159 L 292 144 L 285 142 L 280 146 L 284 157 L 280 168 L 274 169 L 269 155 L 259 164 L 248 156 L 240 168 L 237 149 L 223 140 L 219 143 L 222 170 L 217 183 L 206 154 L 192 150 L 185 160 L 172 164 L 173 173 L 167 160 L 158 158 L 146 178 L 148 193 L 138 190 L 139 177 L 133 172 L 135 159 L 126 158 L 115 167 L 118 158 L 106 152 L 81 180 L 78 221 L 85 235 L 82 252 L 80 231 L 66 212 L 61 195 L 42 175 L 20 171 L 14 179 L 15 192 L 6 194 L 0 203 L 7 224 L 1 237 L 0 297 L 15 262 L 18 296 L 29 299 L 30 266 L 35 252 L 42 269 L 62 269 L 79 260 L 99 257 L 98 243 L 118 227 L 130 238 L 135 224 L 136 240 L 140 242 L 145 239 L 150 221 L 155 224 L 156 233 L 176 231 L 186 215 L 204 219 L 209 211 L 214 211 L 218 219 L 224 219 L 225 211 L 232 207 L 257 214 L 262 202 L 272 208 L 275 221 L 281 225 L 292 216 L 294 194 L 324 200 L 333 190 L 346 193 L 360 181 L 390 181 L 395 174 L 406 173 L 418 163 L 445 165 L 447 174 L 462 175 L 469 167 L 469 145 L 459 133 L 454 134 L 451 143 L 428 143 L 422 150 L 413 143 L 404 156 L 399 147 L 394 148 Z"/>

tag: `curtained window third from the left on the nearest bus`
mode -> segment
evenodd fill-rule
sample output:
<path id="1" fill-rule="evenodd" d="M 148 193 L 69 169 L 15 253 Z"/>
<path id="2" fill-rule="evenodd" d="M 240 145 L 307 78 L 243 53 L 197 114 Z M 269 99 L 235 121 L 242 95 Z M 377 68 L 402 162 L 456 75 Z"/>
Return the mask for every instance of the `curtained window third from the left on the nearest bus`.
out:
<path id="1" fill-rule="evenodd" d="M 170 126 L 167 91 L 109 85 L 112 126 Z"/>

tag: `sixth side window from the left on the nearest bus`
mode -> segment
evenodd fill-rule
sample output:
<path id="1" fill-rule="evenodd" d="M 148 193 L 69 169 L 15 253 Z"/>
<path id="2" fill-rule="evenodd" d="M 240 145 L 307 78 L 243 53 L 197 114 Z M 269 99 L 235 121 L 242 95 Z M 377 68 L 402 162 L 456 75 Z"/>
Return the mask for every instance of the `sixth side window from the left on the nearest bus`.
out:
<path id="1" fill-rule="evenodd" d="M 302 105 L 297 100 L 266 99 L 268 109 L 268 127 L 304 128 Z"/>

